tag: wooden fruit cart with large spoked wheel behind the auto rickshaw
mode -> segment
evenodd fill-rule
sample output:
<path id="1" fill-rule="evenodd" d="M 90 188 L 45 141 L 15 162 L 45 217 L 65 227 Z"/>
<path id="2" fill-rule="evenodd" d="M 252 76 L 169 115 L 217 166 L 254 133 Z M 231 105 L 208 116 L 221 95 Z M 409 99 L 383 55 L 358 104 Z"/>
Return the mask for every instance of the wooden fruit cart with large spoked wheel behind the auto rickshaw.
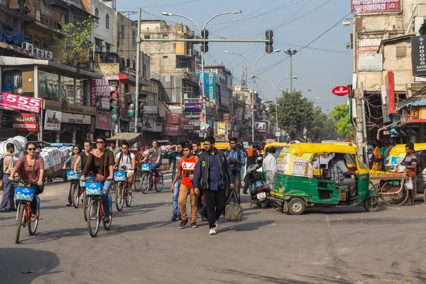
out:
<path id="1" fill-rule="evenodd" d="M 370 188 L 376 190 L 388 206 L 400 206 L 408 200 L 406 173 L 370 174 Z"/>

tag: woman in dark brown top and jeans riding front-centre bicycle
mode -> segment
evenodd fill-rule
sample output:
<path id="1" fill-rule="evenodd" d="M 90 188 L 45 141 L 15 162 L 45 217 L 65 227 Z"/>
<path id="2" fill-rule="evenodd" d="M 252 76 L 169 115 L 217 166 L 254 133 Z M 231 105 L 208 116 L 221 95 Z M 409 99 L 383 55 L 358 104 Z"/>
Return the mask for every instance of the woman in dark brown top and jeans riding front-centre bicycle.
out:
<path id="1" fill-rule="evenodd" d="M 87 173 L 92 171 L 94 180 L 103 182 L 104 188 L 102 189 L 102 203 L 104 204 L 104 222 L 109 223 L 109 197 L 108 191 L 114 177 L 114 154 L 112 151 L 105 148 L 107 138 L 98 136 L 96 139 L 97 149 L 89 154 L 84 169 L 82 170 L 82 180 L 85 180 Z"/>

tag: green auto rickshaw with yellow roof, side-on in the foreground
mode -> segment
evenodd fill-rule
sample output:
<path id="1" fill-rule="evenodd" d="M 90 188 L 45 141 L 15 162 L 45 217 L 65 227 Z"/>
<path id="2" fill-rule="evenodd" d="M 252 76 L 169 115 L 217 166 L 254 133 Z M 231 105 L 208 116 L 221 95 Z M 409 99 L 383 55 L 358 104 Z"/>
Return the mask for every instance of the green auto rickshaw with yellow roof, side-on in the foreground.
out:
<path id="1" fill-rule="evenodd" d="M 328 163 L 332 155 L 342 153 L 349 170 L 356 171 L 356 200 L 346 202 L 349 187 L 339 186 L 331 178 Z M 346 161 L 348 155 L 351 161 Z M 349 163 L 348 163 L 349 162 Z M 355 162 L 355 163 L 354 163 Z M 320 204 L 324 207 L 364 206 L 368 212 L 379 207 L 378 193 L 368 188 L 368 168 L 356 155 L 356 146 L 351 143 L 300 143 L 291 145 L 287 153 L 278 158 L 277 172 L 274 176 L 271 201 L 281 212 L 300 215 L 306 207 Z"/>

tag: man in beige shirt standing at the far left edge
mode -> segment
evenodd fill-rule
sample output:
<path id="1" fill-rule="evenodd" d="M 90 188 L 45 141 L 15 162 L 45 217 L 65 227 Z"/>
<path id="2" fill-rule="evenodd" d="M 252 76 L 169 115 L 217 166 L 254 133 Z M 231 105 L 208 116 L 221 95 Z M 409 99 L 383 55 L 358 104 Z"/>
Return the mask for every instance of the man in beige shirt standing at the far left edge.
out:
<path id="1" fill-rule="evenodd" d="M 0 212 L 16 211 L 13 197 L 15 196 L 15 188 L 11 184 L 9 177 L 11 176 L 15 161 L 13 160 L 12 153 L 15 152 L 15 145 L 7 143 L 6 153 L 3 157 L 3 197 L 0 204 Z"/>

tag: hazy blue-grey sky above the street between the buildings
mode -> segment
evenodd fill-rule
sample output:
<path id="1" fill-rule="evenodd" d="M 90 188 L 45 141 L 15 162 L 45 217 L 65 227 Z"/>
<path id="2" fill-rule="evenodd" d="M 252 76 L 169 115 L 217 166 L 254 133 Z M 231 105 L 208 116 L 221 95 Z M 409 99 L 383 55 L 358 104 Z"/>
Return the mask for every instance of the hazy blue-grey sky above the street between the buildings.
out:
<path id="1" fill-rule="evenodd" d="M 142 19 L 163 19 L 167 23 L 184 23 L 197 31 L 185 18 L 163 16 L 161 12 L 177 13 L 192 18 L 198 26 L 204 26 L 209 18 L 226 11 L 242 13 L 214 18 L 207 25 L 209 38 L 265 39 L 265 31 L 273 31 L 273 48 L 279 53 L 263 56 L 254 74 L 275 85 L 290 77 L 290 60 L 283 51 L 298 50 L 293 56 L 293 89 L 310 92 L 302 94 L 315 101 L 326 113 L 337 104 L 345 104 L 346 97 L 337 97 L 332 89 L 337 85 L 351 84 L 352 50 L 346 50 L 350 42 L 352 26 L 345 27 L 344 18 L 351 18 L 351 0 L 122 0 L 117 11 L 142 9 Z M 133 20 L 137 16 L 131 16 Z M 324 33 L 324 34 L 323 34 Z M 315 40 L 313 43 L 311 43 Z M 308 45 L 310 44 L 310 45 Z M 307 45 L 306 48 L 303 48 Z M 225 65 L 234 75 L 234 85 L 241 85 L 245 68 L 251 77 L 249 62 L 233 53 L 245 55 L 251 63 L 265 53 L 265 43 L 209 43 L 204 56 L 205 65 Z M 200 45 L 197 45 L 200 48 Z M 248 82 L 251 88 L 251 81 Z M 268 82 L 256 80 L 255 89 L 263 100 L 274 100 L 279 88 L 290 89 L 290 80 L 280 82 L 277 91 Z M 329 110 L 329 111 L 327 111 Z"/>

